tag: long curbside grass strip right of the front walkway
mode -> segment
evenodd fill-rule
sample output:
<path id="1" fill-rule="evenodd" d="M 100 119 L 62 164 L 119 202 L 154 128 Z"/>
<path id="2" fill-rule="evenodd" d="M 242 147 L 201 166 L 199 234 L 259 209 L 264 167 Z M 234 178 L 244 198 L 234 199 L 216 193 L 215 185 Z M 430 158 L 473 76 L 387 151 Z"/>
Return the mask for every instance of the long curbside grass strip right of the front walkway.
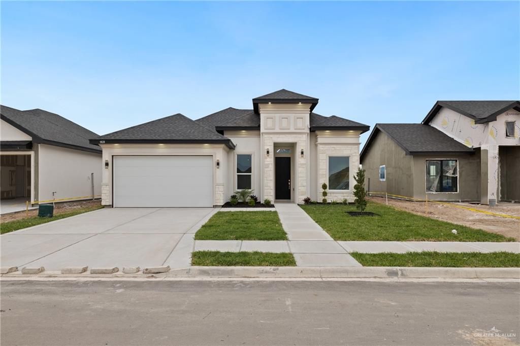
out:
<path id="1" fill-rule="evenodd" d="M 520 254 L 512 252 L 406 252 L 405 254 L 350 254 L 365 267 L 518 268 Z"/>

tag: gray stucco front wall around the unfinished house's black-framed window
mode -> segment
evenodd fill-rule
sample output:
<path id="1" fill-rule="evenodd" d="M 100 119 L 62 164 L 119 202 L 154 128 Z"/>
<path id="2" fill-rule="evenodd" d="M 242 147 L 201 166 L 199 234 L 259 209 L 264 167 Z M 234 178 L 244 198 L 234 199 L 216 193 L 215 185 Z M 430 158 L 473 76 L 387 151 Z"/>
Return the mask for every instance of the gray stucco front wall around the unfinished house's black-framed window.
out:
<path id="1" fill-rule="evenodd" d="M 428 199 L 435 201 L 480 201 L 480 150 L 475 154 L 414 155 L 413 195 L 426 198 L 426 160 L 457 159 L 459 161 L 458 192 L 428 192 Z"/>

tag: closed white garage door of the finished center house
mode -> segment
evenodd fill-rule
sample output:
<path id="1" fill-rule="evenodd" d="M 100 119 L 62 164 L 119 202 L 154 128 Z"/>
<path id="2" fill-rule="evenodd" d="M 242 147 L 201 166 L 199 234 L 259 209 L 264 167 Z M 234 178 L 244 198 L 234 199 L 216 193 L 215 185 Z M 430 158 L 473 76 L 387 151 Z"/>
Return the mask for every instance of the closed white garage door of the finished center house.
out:
<path id="1" fill-rule="evenodd" d="M 114 207 L 212 207 L 212 156 L 114 156 Z"/>

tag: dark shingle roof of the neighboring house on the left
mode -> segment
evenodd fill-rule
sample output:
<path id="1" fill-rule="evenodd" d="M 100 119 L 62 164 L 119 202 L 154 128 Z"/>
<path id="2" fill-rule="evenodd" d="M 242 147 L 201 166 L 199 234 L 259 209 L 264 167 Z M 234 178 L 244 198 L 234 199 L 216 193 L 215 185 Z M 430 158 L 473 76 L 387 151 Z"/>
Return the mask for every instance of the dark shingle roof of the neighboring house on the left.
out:
<path id="1" fill-rule="evenodd" d="M 95 132 L 58 114 L 41 109 L 20 111 L 4 105 L 0 106 L 0 113 L 5 122 L 31 136 L 33 143 L 101 152 L 99 145 L 90 144 L 88 141 L 98 136 Z"/>

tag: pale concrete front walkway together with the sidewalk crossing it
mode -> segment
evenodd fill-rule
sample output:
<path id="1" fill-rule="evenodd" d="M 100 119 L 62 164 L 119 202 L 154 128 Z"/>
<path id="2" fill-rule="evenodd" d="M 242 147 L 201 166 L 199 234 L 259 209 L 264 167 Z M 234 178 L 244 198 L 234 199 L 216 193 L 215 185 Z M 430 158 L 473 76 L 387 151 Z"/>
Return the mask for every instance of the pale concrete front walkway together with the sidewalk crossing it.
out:
<path id="1" fill-rule="evenodd" d="M 291 252 L 300 267 L 359 267 L 350 252 L 439 251 L 520 253 L 520 243 L 492 242 L 342 242 L 334 241 L 300 206 L 277 203 L 276 211 L 289 241 L 196 241 L 194 249 L 213 251 Z"/>

